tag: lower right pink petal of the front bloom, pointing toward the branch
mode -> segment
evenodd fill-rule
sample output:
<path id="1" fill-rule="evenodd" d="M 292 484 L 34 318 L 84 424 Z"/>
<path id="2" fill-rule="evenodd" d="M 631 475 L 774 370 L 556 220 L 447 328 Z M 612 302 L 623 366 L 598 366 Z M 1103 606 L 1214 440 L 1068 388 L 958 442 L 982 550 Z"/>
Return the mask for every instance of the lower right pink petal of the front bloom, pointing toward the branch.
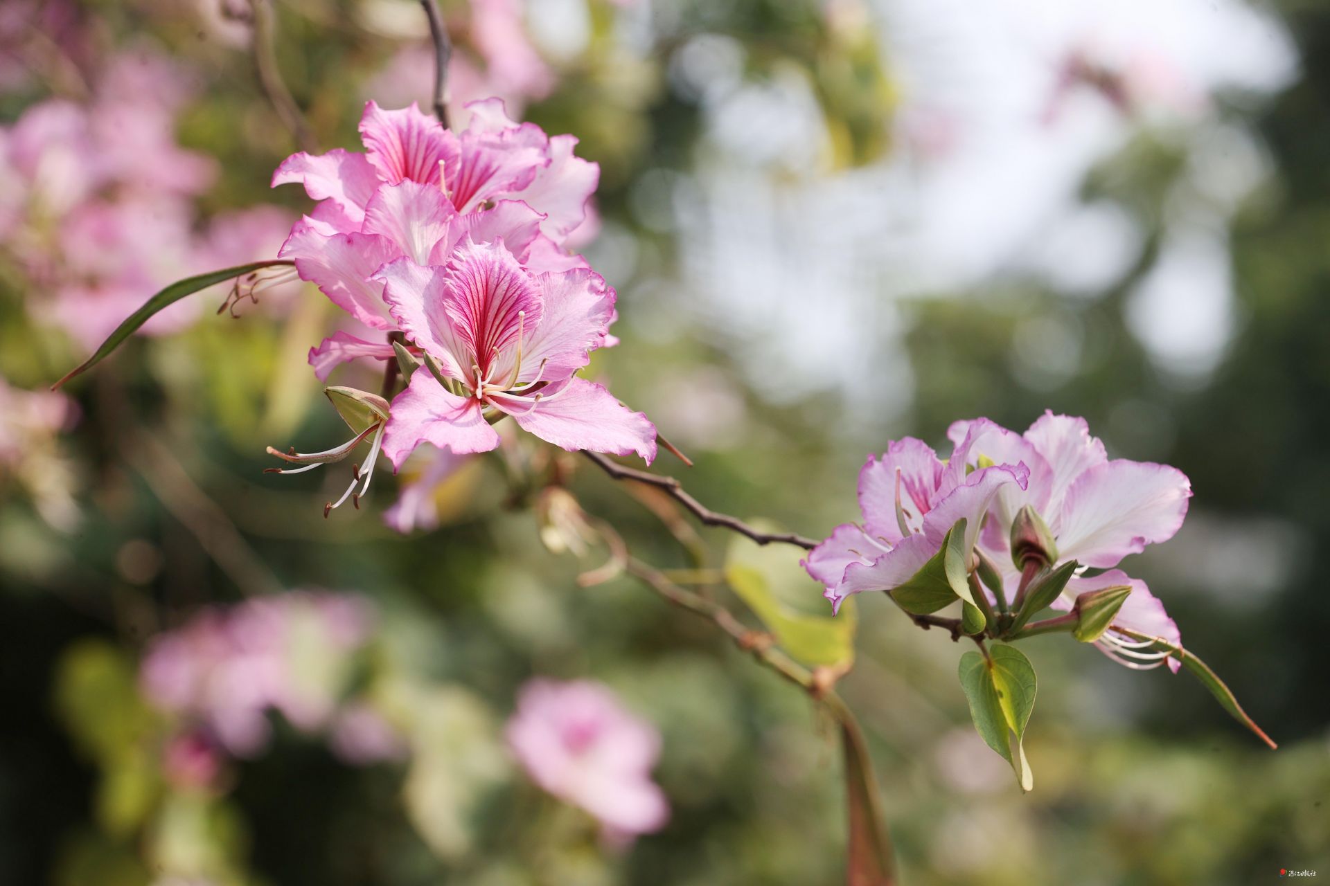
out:
<path id="1" fill-rule="evenodd" d="M 548 391 L 548 389 L 547 389 Z M 656 458 L 656 425 L 624 406 L 604 387 L 569 379 L 549 399 L 495 396 L 491 401 L 527 432 L 568 452 L 587 449 L 613 456 Z"/>

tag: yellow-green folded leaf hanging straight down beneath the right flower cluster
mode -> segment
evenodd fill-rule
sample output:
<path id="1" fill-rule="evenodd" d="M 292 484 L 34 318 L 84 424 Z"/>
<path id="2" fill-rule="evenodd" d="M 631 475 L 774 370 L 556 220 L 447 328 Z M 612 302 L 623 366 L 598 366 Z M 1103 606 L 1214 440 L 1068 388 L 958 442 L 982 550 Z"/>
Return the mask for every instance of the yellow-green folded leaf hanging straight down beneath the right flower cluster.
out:
<path id="1" fill-rule="evenodd" d="M 995 646 L 990 659 L 979 652 L 960 656 L 960 687 L 979 737 L 1011 764 L 1021 790 L 1035 786 L 1025 758 L 1025 725 L 1035 709 L 1035 668 L 1012 646 Z"/>

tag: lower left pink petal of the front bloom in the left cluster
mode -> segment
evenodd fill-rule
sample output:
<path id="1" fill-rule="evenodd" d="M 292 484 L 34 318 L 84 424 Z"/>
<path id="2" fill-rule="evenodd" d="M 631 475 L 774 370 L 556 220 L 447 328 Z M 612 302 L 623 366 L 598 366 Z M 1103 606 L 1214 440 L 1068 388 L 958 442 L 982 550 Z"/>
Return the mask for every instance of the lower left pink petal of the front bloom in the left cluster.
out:
<path id="1" fill-rule="evenodd" d="M 392 399 L 383 454 L 396 470 L 423 442 L 459 456 L 489 452 L 499 445 L 499 434 L 485 421 L 481 408 L 475 397 L 444 391 L 428 369 L 416 369 L 407 389 Z"/>

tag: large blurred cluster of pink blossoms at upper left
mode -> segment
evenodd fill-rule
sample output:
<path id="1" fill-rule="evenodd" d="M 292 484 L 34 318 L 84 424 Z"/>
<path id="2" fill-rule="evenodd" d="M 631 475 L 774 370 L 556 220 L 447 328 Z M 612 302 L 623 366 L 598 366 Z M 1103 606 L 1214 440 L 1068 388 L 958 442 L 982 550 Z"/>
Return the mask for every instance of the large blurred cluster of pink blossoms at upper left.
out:
<path id="1" fill-rule="evenodd" d="M 217 163 L 176 142 L 186 72 L 144 52 L 100 68 L 86 102 L 49 98 L 0 129 L 0 246 L 44 299 L 32 316 L 89 348 L 164 286 L 270 256 L 290 224 L 258 206 L 200 230 L 193 198 Z M 145 331 L 178 331 L 197 313 L 181 302 Z"/>

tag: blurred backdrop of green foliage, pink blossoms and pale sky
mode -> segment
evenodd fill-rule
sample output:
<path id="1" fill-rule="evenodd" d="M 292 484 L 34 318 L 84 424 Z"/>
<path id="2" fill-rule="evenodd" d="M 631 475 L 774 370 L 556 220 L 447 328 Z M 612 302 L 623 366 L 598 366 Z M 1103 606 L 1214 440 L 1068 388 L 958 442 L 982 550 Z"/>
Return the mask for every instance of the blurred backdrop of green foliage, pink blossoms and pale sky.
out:
<path id="1" fill-rule="evenodd" d="M 267 186 L 297 145 L 255 23 L 321 150 L 359 147 L 368 98 L 428 105 L 419 4 L 258 3 L 0 9 L 0 882 L 835 882 L 834 728 L 630 578 L 577 580 L 610 559 L 580 509 L 661 569 L 751 555 L 724 533 L 681 546 L 662 502 L 531 438 L 384 472 L 325 521 L 342 474 L 261 473 L 265 445 L 343 437 L 306 364 L 336 323 L 313 288 L 238 319 L 213 315 L 225 287 L 192 296 L 47 392 L 309 207 Z M 1182 530 L 1128 567 L 1279 749 L 1185 675 L 1039 638 L 1021 796 L 962 650 L 863 599 L 839 688 L 903 882 L 1330 874 L 1330 8 L 442 7 L 455 120 L 497 94 L 600 163 L 579 234 L 622 344 L 592 368 L 705 503 L 822 537 L 888 440 L 1045 408 L 1192 478 Z M 827 614 L 795 555 L 770 571 Z M 660 732 L 662 829 L 608 840 L 535 786 L 503 737 L 533 676 L 602 683 Z"/>

